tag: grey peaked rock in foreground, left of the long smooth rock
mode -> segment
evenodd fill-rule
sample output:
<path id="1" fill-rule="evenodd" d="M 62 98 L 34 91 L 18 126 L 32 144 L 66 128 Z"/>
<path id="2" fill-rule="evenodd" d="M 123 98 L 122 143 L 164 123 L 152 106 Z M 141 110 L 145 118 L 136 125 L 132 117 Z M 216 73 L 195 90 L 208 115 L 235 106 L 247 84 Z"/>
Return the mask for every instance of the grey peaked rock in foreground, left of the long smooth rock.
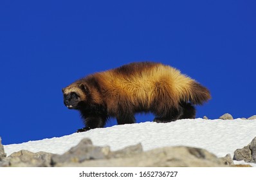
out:
<path id="1" fill-rule="evenodd" d="M 89 139 L 83 139 L 77 146 L 72 147 L 62 155 L 54 155 L 51 164 L 81 163 L 89 159 L 105 159 L 110 156 L 109 147 L 95 147 Z"/>

